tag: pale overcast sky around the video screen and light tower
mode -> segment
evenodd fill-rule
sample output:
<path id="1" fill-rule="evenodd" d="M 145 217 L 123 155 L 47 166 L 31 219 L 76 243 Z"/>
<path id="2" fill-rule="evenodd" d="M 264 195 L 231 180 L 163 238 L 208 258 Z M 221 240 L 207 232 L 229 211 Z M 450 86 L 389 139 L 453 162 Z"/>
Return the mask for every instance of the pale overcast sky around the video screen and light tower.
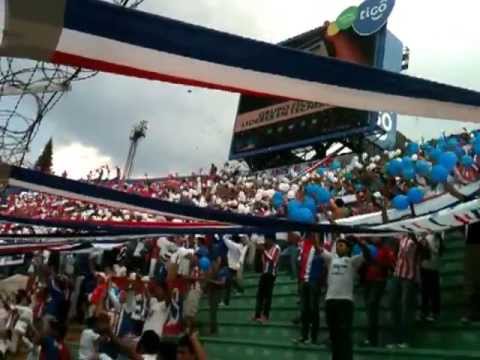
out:
<path id="1" fill-rule="evenodd" d="M 359 3 L 359 2 L 358 2 Z M 335 20 L 356 0 L 146 0 L 142 9 L 255 39 L 278 42 Z M 397 0 L 389 29 L 411 49 L 409 73 L 480 91 L 478 1 Z M 477 34 L 477 35 L 475 35 Z M 121 165 L 131 127 L 149 122 L 135 174 L 165 175 L 227 159 L 238 96 L 101 74 L 75 83 L 48 115 L 32 158 L 54 139 L 55 170 L 71 176 L 103 163 Z M 400 118 L 400 130 L 419 140 L 465 124 Z"/>

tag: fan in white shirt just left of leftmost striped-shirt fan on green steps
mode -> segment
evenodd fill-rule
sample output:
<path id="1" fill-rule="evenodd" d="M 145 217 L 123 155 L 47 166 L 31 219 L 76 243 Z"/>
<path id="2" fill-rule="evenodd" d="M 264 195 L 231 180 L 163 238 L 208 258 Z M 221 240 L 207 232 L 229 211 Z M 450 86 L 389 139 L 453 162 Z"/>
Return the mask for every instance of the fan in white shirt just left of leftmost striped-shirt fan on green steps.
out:
<path id="1" fill-rule="evenodd" d="M 224 304 L 230 305 L 230 295 L 232 292 L 232 286 L 234 286 L 238 292 L 243 293 L 243 288 L 238 282 L 238 272 L 243 266 L 243 260 L 245 258 L 246 246 L 241 243 L 240 236 L 234 235 L 231 239 L 228 237 L 223 238 L 225 246 L 228 248 L 227 260 L 229 276 L 227 283 L 225 284 L 225 296 Z"/>

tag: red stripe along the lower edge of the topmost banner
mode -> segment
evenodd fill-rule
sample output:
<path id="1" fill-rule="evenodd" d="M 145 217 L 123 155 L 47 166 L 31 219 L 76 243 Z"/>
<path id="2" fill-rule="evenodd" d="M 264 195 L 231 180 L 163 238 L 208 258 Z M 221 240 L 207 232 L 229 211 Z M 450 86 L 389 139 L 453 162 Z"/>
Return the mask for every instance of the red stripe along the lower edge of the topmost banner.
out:
<path id="1" fill-rule="evenodd" d="M 206 83 L 203 81 L 186 79 L 186 78 L 181 78 L 181 77 L 176 77 L 171 75 L 159 74 L 153 71 L 140 70 L 130 66 L 113 64 L 113 63 L 109 63 L 102 60 L 89 59 L 89 58 L 78 56 L 78 55 L 71 55 L 61 51 L 55 51 L 51 56 L 50 60 L 52 63 L 55 63 L 55 64 L 78 66 L 78 67 L 93 69 L 97 71 L 121 74 L 126 76 L 133 76 L 133 77 L 144 78 L 149 80 L 164 81 L 164 82 L 169 82 L 173 84 L 190 85 L 190 86 L 215 89 L 215 90 L 224 90 L 224 91 L 241 93 L 241 94 L 252 95 L 252 96 L 273 97 L 273 98 L 286 99 L 286 100 L 299 100 L 299 99 L 284 98 L 284 97 L 267 94 L 267 93 L 260 93 L 260 92 L 247 90 L 247 89 L 240 89 L 240 88 L 218 85 L 213 83 Z"/>

